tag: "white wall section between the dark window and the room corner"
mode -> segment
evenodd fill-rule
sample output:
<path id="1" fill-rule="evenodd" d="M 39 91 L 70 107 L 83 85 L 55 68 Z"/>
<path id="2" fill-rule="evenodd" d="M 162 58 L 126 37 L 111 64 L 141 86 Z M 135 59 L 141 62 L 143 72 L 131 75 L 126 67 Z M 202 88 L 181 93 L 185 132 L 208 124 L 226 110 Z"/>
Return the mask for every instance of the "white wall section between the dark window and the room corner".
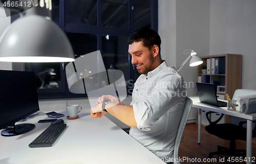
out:
<path id="1" fill-rule="evenodd" d="M 185 50 L 194 50 L 198 56 L 209 55 L 209 0 L 159 0 L 158 4 L 162 59 L 177 68 L 188 57 L 188 54 L 183 54 Z M 188 84 L 187 96 L 197 95 L 197 68 L 186 63 L 180 73 Z M 195 120 L 196 109 L 193 108 L 188 122 Z"/>

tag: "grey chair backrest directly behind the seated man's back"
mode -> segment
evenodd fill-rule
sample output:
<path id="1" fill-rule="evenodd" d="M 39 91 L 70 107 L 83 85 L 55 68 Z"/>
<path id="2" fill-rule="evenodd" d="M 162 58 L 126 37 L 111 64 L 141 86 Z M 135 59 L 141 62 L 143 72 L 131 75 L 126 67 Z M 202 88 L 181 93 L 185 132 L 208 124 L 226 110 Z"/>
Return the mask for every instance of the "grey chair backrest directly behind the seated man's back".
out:
<path id="1" fill-rule="evenodd" d="M 191 107 L 192 107 L 192 100 L 189 99 L 188 97 L 186 97 L 185 106 L 184 106 L 184 109 L 183 109 L 183 113 L 182 113 L 182 116 L 181 116 L 179 129 L 178 129 L 176 140 L 175 140 L 174 163 L 180 163 L 179 162 L 178 151 L 179 151 L 181 137 L 182 137 L 184 128 L 186 126 L 187 118 L 188 118 L 188 115 L 189 115 Z"/>

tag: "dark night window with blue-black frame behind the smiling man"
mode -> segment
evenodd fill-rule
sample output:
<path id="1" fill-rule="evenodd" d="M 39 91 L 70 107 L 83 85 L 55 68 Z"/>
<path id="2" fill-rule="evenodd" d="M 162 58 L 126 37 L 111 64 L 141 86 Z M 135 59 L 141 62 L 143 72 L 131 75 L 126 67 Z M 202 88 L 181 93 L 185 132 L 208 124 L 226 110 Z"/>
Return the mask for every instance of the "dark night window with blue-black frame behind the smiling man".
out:
<path id="1" fill-rule="evenodd" d="M 52 0 L 52 4 L 52 20 L 69 38 L 75 57 L 100 50 L 105 69 L 122 71 L 126 86 L 130 85 L 127 94 L 131 95 L 131 84 L 139 74 L 131 64 L 127 40 L 141 27 L 158 30 L 158 1 Z M 25 64 L 26 71 L 36 73 L 39 99 L 87 97 L 69 91 L 65 73 L 67 64 Z"/>

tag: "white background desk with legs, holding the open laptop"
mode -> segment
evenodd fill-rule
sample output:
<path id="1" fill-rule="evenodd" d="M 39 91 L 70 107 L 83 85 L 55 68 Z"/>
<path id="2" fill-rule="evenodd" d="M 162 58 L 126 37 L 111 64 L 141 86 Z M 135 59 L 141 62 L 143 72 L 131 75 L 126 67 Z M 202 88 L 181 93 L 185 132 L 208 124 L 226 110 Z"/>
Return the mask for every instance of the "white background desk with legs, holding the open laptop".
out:
<path id="1" fill-rule="evenodd" d="M 198 96 L 196 97 L 189 97 L 193 101 L 192 107 L 198 108 L 198 144 L 201 143 L 201 109 L 215 111 L 218 113 L 228 114 L 232 116 L 237 116 L 239 118 L 247 119 L 247 138 L 246 138 L 246 163 L 251 163 L 252 157 L 252 120 L 256 120 L 256 113 L 253 114 L 243 114 L 240 113 L 240 106 L 237 106 L 236 111 L 229 111 L 227 107 L 217 107 L 205 103 L 201 103 Z"/>

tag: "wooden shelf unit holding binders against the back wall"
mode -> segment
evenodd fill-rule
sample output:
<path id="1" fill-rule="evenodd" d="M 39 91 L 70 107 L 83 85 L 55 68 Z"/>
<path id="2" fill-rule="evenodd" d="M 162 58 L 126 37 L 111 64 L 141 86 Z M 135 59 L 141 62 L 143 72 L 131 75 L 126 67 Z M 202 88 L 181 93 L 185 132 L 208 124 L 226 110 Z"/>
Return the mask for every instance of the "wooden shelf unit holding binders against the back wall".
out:
<path id="1" fill-rule="evenodd" d="M 218 92 L 217 95 L 220 99 L 225 99 L 225 94 L 228 94 L 230 98 L 233 97 L 234 91 L 240 89 L 242 85 L 242 55 L 238 54 L 222 54 L 222 55 L 210 55 L 200 57 L 203 60 L 203 64 L 197 66 L 197 77 L 201 76 L 204 82 L 204 76 L 209 76 L 209 82 L 215 81 L 220 86 L 225 86 L 225 92 Z M 222 58 L 225 59 L 224 73 L 225 74 L 214 74 L 211 70 L 211 59 Z M 202 65 L 207 66 L 207 59 L 210 60 L 209 74 L 202 74 Z M 209 64 L 208 64 L 209 66 Z M 197 78 L 199 79 L 199 78 Z M 197 80 L 197 82 L 199 82 Z M 222 97 L 222 98 L 221 98 Z M 225 116 L 225 123 L 229 123 L 229 117 Z"/>

